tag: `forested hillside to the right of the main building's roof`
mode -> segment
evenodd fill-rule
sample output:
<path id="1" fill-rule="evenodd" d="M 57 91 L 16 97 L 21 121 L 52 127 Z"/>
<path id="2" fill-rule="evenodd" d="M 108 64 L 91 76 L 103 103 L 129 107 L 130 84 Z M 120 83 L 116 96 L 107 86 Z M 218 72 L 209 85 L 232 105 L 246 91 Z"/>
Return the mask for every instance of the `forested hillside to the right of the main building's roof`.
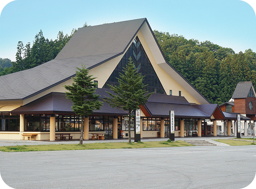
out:
<path id="1" fill-rule="evenodd" d="M 212 103 L 229 101 L 239 81 L 256 84 L 256 53 L 251 49 L 236 54 L 210 41 L 156 30 L 154 35 L 167 61 Z"/>

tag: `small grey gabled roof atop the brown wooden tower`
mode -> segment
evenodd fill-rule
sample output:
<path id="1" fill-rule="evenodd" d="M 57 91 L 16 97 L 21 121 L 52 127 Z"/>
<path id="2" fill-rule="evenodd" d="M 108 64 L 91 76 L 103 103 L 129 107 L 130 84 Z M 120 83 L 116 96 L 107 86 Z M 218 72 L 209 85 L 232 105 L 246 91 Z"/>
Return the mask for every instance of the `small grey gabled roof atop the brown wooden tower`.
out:
<path id="1" fill-rule="evenodd" d="M 251 81 L 242 81 L 236 85 L 236 89 L 233 93 L 232 99 L 246 99 L 250 88 L 252 87 L 253 93 L 255 95 L 255 89 Z"/>

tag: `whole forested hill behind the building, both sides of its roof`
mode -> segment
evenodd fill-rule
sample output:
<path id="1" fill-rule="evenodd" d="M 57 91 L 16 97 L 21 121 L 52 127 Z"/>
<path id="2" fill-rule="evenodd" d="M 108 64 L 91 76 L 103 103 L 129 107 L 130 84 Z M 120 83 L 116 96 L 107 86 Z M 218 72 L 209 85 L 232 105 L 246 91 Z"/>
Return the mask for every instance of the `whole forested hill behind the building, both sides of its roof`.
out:
<path id="1" fill-rule="evenodd" d="M 84 24 L 86 26 L 87 23 Z M 54 59 L 75 32 L 76 29 L 71 35 L 58 32 L 57 39 L 52 41 L 44 38 L 40 30 L 32 44 L 24 46 L 19 41 L 15 62 L 0 58 L 0 76 Z M 251 49 L 236 54 L 233 49 L 210 41 L 187 40 L 181 35 L 157 30 L 154 30 L 154 35 L 167 61 L 212 103 L 227 102 L 239 81 L 256 84 L 256 53 Z"/>

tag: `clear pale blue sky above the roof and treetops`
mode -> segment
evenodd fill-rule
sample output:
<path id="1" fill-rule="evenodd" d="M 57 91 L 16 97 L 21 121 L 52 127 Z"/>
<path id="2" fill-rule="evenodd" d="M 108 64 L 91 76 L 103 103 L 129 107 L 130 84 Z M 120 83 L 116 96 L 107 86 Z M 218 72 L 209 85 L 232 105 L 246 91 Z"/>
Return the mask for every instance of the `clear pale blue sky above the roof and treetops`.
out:
<path id="1" fill-rule="evenodd" d="M 94 26 L 146 17 L 154 30 L 256 52 L 256 0 L 0 0 L 0 58 L 42 29 L 55 40 L 85 22 Z"/>

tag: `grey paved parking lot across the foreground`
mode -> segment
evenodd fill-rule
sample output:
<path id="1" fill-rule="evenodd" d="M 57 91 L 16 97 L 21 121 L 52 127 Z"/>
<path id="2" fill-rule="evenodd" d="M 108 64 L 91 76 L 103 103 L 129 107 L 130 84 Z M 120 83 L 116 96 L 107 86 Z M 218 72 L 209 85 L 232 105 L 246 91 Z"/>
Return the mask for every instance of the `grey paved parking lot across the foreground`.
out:
<path id="1" fill-rule="evenodd" d="M 0 152 L 1 189 L 256 188 L 256 146 Z"/>

